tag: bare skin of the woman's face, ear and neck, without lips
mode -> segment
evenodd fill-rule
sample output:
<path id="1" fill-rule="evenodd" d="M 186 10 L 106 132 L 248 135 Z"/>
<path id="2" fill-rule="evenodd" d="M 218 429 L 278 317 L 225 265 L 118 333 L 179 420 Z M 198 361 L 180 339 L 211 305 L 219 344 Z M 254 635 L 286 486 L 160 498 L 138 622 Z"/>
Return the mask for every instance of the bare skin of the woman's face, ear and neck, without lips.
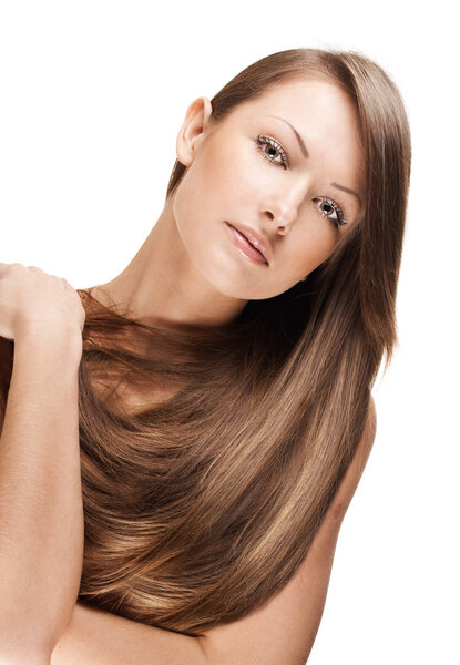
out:
<path id="1" fill-rule="evenodd" d="M 359 219 L 358 197 L 330 184 L 362 201 L 356 112 L 341 89 L 318 80 L 284 82 L 219 123 L 211 112 L 204 96 L 188 106 L 176 140 L 187 171 L 127 267 L 93 288 L 101 303 L 166 327 L 225 325 L 249 299 L 270 298 L 305 278 Z M 308 156 L 279 117 L 298 131 Z M 275 143 L 259 144 L 260 136 Z M 340 215 L 334 203 L 346 213 L 345 226 L 335 225 Z M 245 257 L 225 222 L 263 235 L 269 265 Z"/>

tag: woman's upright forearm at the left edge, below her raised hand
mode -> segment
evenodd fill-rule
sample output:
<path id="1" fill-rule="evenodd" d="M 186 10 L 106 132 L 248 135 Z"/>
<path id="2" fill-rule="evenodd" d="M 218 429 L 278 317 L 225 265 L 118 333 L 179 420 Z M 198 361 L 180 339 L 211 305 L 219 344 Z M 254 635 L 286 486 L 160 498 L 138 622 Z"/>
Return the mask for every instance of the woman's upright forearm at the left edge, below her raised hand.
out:
<path id="1" fill-rule="evenodd" d="M 83 557 L 80 357 L 73 330 L 29 331 L 14 342 L 0 438 L 4 662 L 20 654 L 50 654 L 78 597 Z"/>

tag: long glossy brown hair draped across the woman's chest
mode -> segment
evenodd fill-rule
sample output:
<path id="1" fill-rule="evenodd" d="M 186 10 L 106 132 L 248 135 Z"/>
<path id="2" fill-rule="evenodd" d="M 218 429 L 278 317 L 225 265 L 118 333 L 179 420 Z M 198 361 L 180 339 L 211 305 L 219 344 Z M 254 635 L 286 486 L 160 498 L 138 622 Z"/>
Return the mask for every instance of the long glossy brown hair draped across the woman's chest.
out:
<path id="1" fill-rule="evenodd" d="M 211 102 L 218 122 L 280 81 L 318 76 L 356 105 L 367 188 L 362 218 L 305 282 L 249 300 L 226 326 L 175 330 L 79 289 L 79 600 L 187 635 L 245 616 L 294 575 L 354 457 L 397 344 L 411 160 L 400 93 L 362 54 L 293 49 Z M 176 161 L 166 200 L 184 173 Z M 127 412 L 123 386 L 177 390 Z"/>

